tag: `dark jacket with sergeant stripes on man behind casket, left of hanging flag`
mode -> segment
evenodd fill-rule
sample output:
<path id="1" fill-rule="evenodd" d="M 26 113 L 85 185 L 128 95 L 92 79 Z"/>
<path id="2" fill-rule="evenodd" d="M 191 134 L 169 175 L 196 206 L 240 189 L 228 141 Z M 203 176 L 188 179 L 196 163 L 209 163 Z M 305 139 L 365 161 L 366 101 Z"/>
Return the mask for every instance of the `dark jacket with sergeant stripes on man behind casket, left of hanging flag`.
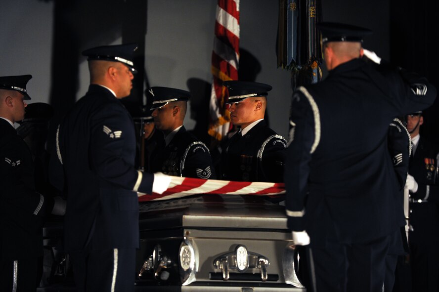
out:
<path id="1" fill-rule="evenodd" d="M 215 169 L 206 145 L 182 126 L 171 142 L 157 145 L 151 156 L 151 170 L 168 175 L 215 179 Z"/>

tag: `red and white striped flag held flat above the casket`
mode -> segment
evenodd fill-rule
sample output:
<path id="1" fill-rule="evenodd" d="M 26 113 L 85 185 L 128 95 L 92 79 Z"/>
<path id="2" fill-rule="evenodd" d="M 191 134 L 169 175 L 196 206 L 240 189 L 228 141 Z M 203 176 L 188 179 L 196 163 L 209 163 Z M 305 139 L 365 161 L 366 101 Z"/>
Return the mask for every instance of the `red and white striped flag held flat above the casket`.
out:
<path id="1" fill-rule="evenodd" d="M 139 201 L 158 201 L 183 198 L 199 194 L 225 195 L 279 195 L 285 193 L 283 183 L 227 181 L 189 177 L 171 177 L 170 188 L 162 195 L 139 194 Z"/>

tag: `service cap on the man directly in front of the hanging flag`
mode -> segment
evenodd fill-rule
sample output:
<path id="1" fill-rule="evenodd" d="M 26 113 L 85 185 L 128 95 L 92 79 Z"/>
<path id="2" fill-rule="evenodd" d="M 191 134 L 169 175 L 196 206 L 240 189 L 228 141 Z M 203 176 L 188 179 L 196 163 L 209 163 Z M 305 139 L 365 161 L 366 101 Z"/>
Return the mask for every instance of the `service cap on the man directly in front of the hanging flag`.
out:
<path id="1" fill-rule="evenodd" d="M 225 81 L 222 83 L 227 87 L 228 99 L 226 104 L 243 101 L 249 97 L 267 96 L 268 91 L 273 87 L 264 83 L 250 81 Z"/>

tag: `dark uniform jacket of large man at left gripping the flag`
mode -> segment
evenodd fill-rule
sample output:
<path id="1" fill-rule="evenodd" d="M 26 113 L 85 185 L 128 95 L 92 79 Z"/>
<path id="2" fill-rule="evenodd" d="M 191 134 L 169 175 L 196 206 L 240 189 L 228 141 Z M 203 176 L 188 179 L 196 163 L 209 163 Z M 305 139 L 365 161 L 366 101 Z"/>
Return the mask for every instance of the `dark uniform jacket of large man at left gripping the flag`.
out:
<path id="1" fill-rule="evenodd" d="M 58 164 L 51 166 L 52 182 L 67 193 L 66 250 L 138 246 L 133 189 L 137 183 L 139 192 L 151 193 L 153 175 L 134 169 L 135 143 L 128 111 L 108 89 L 91 84 L 58 128 Z"/>

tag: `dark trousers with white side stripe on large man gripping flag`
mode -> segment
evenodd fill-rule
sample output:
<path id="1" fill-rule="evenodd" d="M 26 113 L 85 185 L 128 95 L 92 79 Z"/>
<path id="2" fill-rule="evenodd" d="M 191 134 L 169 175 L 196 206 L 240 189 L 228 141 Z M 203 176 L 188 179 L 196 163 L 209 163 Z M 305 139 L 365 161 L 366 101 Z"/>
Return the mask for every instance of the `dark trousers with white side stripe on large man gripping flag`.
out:
<path id="1" fill-rule="evenodd" d="M 78 292 L 134 291 L 135 249 L 70 252 Z"/>

